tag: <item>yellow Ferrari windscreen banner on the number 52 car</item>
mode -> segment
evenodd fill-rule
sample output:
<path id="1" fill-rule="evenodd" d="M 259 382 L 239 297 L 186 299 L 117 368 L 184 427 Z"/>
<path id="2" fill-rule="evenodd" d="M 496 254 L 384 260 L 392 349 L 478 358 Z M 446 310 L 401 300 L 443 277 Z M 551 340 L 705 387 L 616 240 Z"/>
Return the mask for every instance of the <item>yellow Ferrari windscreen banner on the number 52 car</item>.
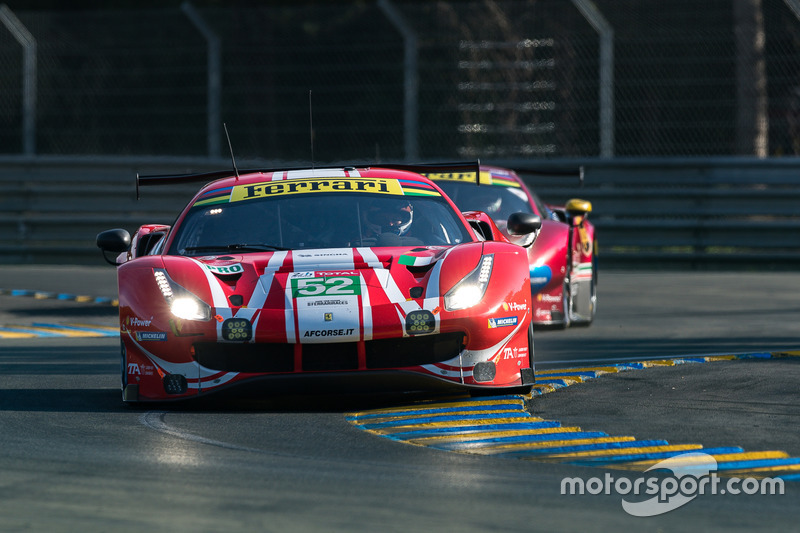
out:
<path id="1" fill-rule="evenodd" d="M 255 198 L 271 198 L 286 194 L 315 192 L 365 192 L 403 195 L 403 189 L 396 180 L 353 177 L 309 178 L 237 185 L 233 188 L 230 201 L 239 202 Z"/>

